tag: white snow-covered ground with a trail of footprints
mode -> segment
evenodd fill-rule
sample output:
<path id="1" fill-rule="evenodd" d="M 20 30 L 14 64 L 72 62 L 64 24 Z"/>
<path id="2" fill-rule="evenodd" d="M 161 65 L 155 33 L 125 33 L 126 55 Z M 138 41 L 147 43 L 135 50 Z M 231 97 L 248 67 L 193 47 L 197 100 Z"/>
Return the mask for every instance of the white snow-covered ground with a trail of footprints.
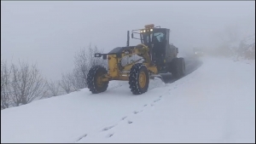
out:
<path id="1" fill-rule="evenodd" d="M 131 95 L 111 82 L 1 111 L 1 142 L 255 142 L 255 60 L 207 58 L 172 84 Z"/>

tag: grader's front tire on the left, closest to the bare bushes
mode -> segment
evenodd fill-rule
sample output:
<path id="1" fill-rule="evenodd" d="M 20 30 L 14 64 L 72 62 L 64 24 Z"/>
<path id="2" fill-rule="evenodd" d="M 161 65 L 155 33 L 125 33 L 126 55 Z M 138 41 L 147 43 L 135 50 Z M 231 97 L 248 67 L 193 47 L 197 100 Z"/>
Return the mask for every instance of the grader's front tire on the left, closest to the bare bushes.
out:
<path id="1" fill-rule="evenodd" d="M 90 71 L 87 74 L 86 83 L 92 94 L 102 93 L 108 89 L 109 81 L 97 83 L 97 78 L 107 73 L 107 69 L 103 66 L 92 66 L 90 68 Z"/>

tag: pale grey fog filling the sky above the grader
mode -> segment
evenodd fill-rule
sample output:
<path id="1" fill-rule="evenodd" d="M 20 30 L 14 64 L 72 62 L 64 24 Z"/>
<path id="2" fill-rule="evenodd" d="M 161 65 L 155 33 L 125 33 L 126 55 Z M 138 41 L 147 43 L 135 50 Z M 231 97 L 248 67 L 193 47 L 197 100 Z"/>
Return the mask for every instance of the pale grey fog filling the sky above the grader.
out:
<path id="1" fill-rule="evenodd" d="M 126 31 L 147 24 L 171 29 L 170 41 L 181 52 L 214 49 L 227 28 L 236 31 L 235 39 L 255 32 L 255 1 L 1 1 L 1 56 L 37 62 L 44 77 L 58 79 L 73 70 L 79 49 L 125 46 Z"/>

